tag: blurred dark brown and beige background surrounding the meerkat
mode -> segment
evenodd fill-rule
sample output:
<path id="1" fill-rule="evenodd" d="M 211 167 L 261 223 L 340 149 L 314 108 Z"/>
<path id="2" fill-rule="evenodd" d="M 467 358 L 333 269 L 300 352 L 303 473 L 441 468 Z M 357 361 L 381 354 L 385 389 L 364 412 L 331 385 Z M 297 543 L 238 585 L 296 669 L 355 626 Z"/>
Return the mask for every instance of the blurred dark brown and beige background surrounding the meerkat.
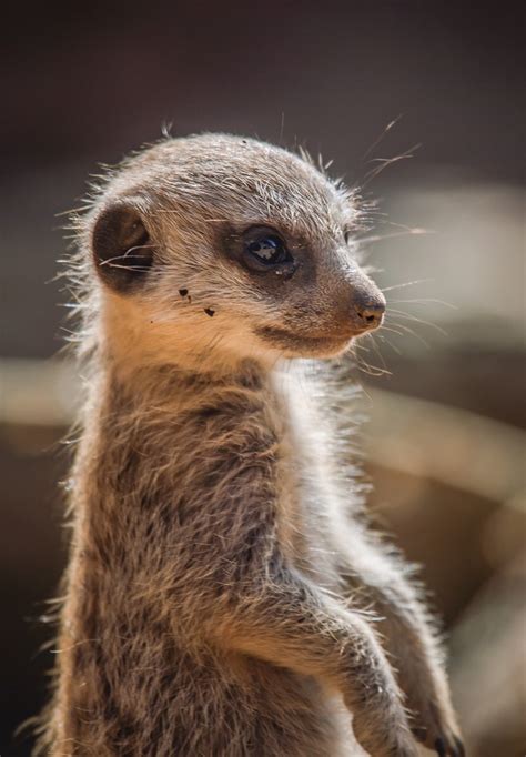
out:
<path id="1" fill-rule="evenodd" d="M 524 755 L 519 6 L 11 3 L 2 20 L 0 754 L 30 751 L 13 730 L 44 697 L 39 617 L 65 558 L 58 214 L 98 161 L 171 124 L 304 145 L 378 201 L 364 244 L 391 310 L 357 374 L 372 507 L 444 617 L 469 754 Z"/>

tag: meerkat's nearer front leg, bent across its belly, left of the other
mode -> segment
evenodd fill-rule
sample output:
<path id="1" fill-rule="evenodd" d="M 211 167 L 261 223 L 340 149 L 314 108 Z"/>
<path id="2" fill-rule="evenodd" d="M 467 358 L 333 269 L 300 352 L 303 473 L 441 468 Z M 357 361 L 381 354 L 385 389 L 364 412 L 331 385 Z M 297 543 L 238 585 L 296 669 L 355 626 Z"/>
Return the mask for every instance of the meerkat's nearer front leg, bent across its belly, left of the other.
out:
<path id="1" fill-rule="evenodd" d="M 212 619 L 218 642 L 340 689 L 373 757 L 416 757 L 402 693 L 364 618 L 290 571 L 254 589 Z"/>

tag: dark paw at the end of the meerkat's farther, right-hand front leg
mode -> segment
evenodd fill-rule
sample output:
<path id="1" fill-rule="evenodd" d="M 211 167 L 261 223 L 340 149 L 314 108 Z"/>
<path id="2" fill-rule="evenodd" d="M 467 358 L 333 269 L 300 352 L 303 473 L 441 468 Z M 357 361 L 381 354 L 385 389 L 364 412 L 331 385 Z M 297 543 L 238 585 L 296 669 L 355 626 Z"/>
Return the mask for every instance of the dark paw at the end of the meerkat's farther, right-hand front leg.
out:
<path id="1" fill-rule="evenodd" d="M 466 750 L 449 707 L 429 702 L 425 707 L 415 708 L 412 730 L 415 738 L 438 757 L 465 757 Z"/>

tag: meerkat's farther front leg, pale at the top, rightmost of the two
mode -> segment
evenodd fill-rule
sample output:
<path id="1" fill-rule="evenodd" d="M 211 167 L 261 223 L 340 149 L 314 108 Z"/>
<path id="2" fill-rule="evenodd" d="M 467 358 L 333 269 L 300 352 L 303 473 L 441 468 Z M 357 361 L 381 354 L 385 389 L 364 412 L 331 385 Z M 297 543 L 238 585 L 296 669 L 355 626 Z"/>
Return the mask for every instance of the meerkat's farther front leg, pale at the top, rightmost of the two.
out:
<path id="1" fill-rule="evenodd" d="M 377 630 L 405 694 L 415 737 L 439 757 L 463 757 L 443 654 L 407 566 L 367 537 L 347 544 L 342 573 L 353 605 L 377 613 Z"/>

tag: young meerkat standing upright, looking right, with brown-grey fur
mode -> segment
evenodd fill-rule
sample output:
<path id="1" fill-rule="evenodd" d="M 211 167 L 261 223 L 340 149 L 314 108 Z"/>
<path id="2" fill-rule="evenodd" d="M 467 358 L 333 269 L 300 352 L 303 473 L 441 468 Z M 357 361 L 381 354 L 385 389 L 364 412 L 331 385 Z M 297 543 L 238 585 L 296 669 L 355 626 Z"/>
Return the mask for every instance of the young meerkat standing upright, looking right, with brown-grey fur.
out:
<path id="1" fill-rule="evenodd" d="M 223 134 L 132 155 L 78 215 L 44 754 L 464 755 L 427 610 L 317 402 L 313 366 L 382 323 L 358 224 L 304 155 Z"/>

